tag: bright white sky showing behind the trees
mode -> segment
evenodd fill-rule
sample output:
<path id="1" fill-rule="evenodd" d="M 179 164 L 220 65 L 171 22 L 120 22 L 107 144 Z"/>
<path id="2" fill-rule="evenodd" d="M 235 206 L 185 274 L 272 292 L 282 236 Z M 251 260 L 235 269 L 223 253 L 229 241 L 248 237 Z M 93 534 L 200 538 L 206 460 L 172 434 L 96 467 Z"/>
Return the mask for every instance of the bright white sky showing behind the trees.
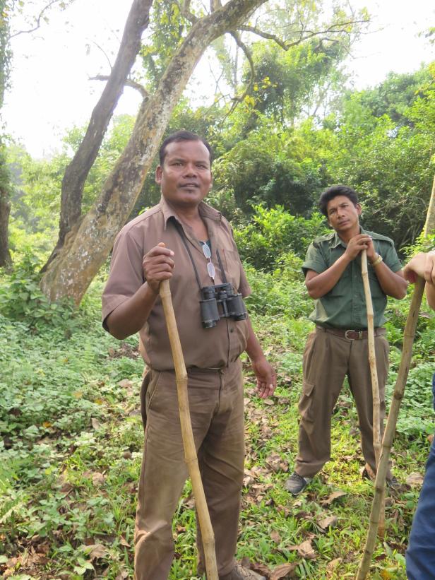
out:
<path id="1" fill-rule="evenodd" d="M 354 47 L 347 62 L 356 88 L 380 83 L 388 71 L 415 71 L 435 58 L 424 35 L 418 36 L 435 25 L 430 0 L 350 2 L 357 8 L 367 6 L 373 17 L 371 33 Z M 76 0 L 67 11 L 53 12 L 49 24 L 33 35 L 13 39 L 12 88 L 3 119 L 31 155 L 50 155 L 66 129 L 88 121 L 102 90 L 102 83 L 89 77 L 109 72 L 107 57 L 97 45 L 113 62 L 130 5 L 126 0 Z M 198 67 L 191 93 L 198 85 L 214 86 L 207 71 L 207 66 Z M 139 100 L 135 90 L 126 88 L 115 113 L 134 114 Z"/>

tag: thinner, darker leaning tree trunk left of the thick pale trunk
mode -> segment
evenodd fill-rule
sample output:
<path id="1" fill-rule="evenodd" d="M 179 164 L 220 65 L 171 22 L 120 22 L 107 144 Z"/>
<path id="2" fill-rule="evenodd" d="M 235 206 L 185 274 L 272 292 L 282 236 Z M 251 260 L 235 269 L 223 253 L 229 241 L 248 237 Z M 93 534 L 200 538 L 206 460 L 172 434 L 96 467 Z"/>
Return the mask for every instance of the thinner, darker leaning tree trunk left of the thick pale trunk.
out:
<path id="1" fill-rule="evenodd" d="M 147 28 L 150 20 L 149 14 L 152 4 L 153 0 L 133 0 L 109 80 L 100 100 L 95 105 L 83 141 L 78 147 L 76 155 L 66 167 L 64 179 L 62 179 L 59 239 L 42 271 L 47 269 L 47 266 L 59 253 L 64 245 L 66 235 L 81 218 L 83 187 L 100 150 L 107 126 L 112 119 L 112 114 L 122 94 L 131 67 L 141 49 L 141 38 L 143 30 Z"/>

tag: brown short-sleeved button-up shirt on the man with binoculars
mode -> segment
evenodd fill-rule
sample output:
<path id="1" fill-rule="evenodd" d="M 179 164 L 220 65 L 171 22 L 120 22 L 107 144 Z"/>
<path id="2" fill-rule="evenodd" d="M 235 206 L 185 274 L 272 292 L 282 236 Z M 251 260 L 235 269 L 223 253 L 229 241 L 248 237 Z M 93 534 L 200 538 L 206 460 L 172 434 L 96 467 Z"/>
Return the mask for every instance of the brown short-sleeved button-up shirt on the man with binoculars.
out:
<path id="1" fill-rule="evenodd" d="M 229 223 L 220 212 L 207 203 L 201 202 L 198 211 L 208 230 L 212 261 L 216 271 L 214 283 L 224 282 L 216 255 L 216 249 L 219 249 L 227 282 L 230 282 L 234 290 L 241 292 L 244 297 L 248 296 L 251 288 L 246 280 Z M 157 206 L 125 225 L 115 240 L 109 278 L 102 295 L 103 326 L 107 316 L 119 304 L 133 296 L 145 282 L 143 256 L 159 242 L 165 242 L 166 247 L 174 251 L 175 265 L 169 283 L 186 367 L 226 367 L 246 348 L 247 321 L 220 319 L 213 328 L 203 328 L 199 304 L 201 292 L 176 223 L 183 228 L 201 286 L 213 285 L 213 280 L 208 276 L 207 259 L 200 241 L 196 239 L 191 227 L 181 223 L 177 214 L 162 197 Z M 145 346 L 144 359 L 147 365 L 162 371 L 174 369 L 160 297 L 157 297 L 140 335 Z"/>

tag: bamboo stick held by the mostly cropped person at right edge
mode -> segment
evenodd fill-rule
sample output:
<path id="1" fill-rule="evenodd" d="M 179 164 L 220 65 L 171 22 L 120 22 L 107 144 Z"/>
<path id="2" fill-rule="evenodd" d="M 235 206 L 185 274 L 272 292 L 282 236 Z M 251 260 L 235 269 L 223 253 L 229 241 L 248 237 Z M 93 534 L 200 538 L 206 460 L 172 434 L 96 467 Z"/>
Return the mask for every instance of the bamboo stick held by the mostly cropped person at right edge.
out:
<path id="1" fill-rule="evenodd" d="M 434 227 L 434 223 L 435 223 L 435 179 L 434 179 L 434 187 L 432 188 L 431 193 L 431 200 L 429 202 L 429 209 L 427 211 L 426 223 L 424 225 L 423 230 L 424 236 L 427 236 L 429 234 L 431 229 Z M 376 480 L 374 482 L 375 492 L 373 502 L 371 504 L 369 532 L 367 533 L 366 545 L 364 546 L 364 554 L 359 564 L 356 580 L 365 580 L 367 574 L 369 573 L 371 557 L 373 555 L 374 547 L 376 545 L 376 531 L 379 525 L 379 511 L 381 508 L 381 499 L 383 497 L 383 482 L 385 481 L 386 478 L 386 473 L 388 469 L 388 459 L 390 458 L 391 447 L 393 446 L 395 425 L 398 420 L 400 403 L 402 402 L 403 399 L 403 393 L 405 393 L 407 376 L 410 370 L 412 358 L 412 344 L 414 343 L 415 331 L 417 329 L 417 320 L 420 304 L 422 303 L 423 292 L 424 292 L 424 280 L 422 278 L 417 278 L 417 282 L 415 283 L 414 286 L 414 292 L 412 293 L 410 312 L 407 315 L 405 331 L 403 333 L 403 350 L 402 357 L 400 359 L 398 378 L 395 381 L 393 400 L 391 401 L 390 413 L 388 413 L 386 429 L 382 439 L 381 458 L 379 459 L 379 466 L 376 472 Z"/>

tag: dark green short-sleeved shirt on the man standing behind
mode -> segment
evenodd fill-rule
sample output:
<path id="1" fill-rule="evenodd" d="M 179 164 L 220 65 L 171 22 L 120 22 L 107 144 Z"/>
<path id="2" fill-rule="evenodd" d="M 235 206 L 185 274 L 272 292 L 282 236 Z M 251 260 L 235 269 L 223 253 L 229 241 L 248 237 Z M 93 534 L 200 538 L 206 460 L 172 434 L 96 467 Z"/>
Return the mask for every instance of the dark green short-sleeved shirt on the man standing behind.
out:
<path id="1" fill-rule="evenodd" d="M 373 238 L 375 251 L 383 257 L 383 261 L 393 272 L 398 272 L 402 265 L 394 248 L 393 240 L 389 237 L 367 232 L 361 228 L 362 234 Z M 302 270 L 306 275 L 308 270 L 322 273 L 345 253 L 347 244 L 342 241 L 337 232 L 318 237 L 312 242 Z M 387 297 L 371 264 L 368 264 L 371 300 L 373 302 L 374 326 L 382 326 L 385 322 L 383 311 L 387 304 Z M 366 300 L 361 274 L 361 255 L 347 265 L 340 280 L 335 286 L 318 300 L 314 301 L 314 312 L 309 319 L 320 326 L 337 329 L 367 329 Z"/>

